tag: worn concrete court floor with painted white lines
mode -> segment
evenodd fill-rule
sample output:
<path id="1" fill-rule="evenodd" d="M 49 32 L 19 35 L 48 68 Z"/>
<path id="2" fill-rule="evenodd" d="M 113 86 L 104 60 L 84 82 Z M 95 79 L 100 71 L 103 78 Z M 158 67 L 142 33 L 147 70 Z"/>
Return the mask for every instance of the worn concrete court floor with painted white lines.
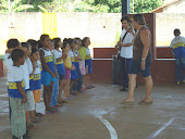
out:
<path id="1" fill-rule="evenodd" d="M 139 105 L 145 87 L 139 86 L 134 105 L 122 105 L 127 92 L 97 84 L 78 94 L 54 115 L 30 130 L 32 139 L 185 139 L 185 86 L 153 88 L 153 104 Z M 44 113 L 44 103 L 37 109 Z M 0 79 L 0 139 L 11 139 L 5 78 Z"/>

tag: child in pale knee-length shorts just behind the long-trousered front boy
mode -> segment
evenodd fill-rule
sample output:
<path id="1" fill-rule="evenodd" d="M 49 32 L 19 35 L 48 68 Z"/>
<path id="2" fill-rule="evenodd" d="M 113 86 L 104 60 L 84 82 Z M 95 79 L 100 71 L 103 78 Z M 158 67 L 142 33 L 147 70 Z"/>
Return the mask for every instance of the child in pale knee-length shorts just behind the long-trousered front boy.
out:
<path id="1" fill-rule="evenodd" d="M 27 103 L 26 103 L 26 109 L 27 109 L 27 127 L 32 128 L 34 127 L 34 123 L 40 122 L 38 117 L 35 117 L 35 100 L 34 100 L 34 73 L 35 68 L 33 68 L 32 61 L 29 59 L 30 56 L 30 45 L 27 42 L 22 42 L 21 46 L 23 48 L 26 48 L 26 59 L 25 59 L 25 64 L 23 65 L 23 73 L 24 73 L 24 78 L 25 78 L 25 89 L 26 89 L 26 96 L 27 96 Z"/>

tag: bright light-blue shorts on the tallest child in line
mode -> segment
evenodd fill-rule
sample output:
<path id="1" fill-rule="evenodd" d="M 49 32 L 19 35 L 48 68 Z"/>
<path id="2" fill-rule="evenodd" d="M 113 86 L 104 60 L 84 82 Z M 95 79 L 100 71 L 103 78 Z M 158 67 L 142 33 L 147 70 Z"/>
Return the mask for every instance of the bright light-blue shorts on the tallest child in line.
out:
<path id="1" fill-rule="evenodd" d="M 52 77 L 52 75 L 48 72 L 41 72 L 41 84 L 44 86 L 49 86 L 51 81 L 55 81 L 55 78 Z"/>

